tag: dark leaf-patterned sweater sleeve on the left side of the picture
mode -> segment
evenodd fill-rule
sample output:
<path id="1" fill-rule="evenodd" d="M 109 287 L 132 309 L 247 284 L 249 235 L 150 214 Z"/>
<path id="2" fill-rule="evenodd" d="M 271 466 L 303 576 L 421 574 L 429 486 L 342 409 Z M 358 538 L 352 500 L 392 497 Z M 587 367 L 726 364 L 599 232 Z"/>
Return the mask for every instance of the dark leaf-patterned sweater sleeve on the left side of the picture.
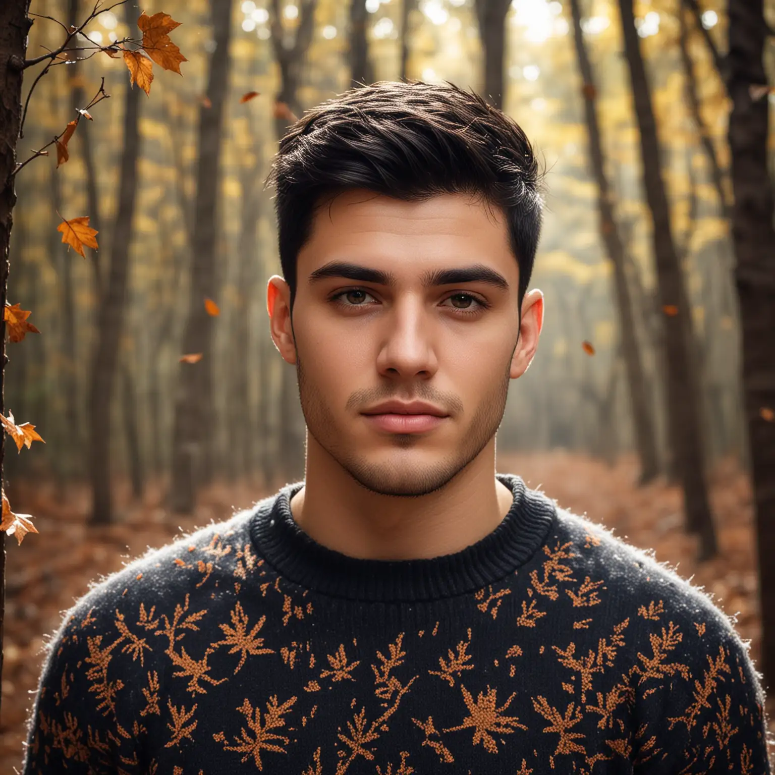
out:
<path id="1" fill-rule="evenodd" d="M 132 676 L 112 664 L 116 639 L 105 605 L 78 605 L 49 646 L 29 720 L 24 775 L 139 772 L 122 701 Z"/>

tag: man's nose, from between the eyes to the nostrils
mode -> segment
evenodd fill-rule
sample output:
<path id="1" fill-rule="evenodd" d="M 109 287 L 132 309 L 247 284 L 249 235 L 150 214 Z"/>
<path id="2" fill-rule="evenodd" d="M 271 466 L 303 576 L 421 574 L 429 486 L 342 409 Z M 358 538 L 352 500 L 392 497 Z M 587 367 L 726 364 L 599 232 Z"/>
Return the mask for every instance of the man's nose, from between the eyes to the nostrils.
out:
<path id="1" fill-rule="evenodd" d="M 403 298 L 385 317 L 377 369 L 385 377 L 432 377 L 438 370 L 433 326 L 419 298 Z"/>

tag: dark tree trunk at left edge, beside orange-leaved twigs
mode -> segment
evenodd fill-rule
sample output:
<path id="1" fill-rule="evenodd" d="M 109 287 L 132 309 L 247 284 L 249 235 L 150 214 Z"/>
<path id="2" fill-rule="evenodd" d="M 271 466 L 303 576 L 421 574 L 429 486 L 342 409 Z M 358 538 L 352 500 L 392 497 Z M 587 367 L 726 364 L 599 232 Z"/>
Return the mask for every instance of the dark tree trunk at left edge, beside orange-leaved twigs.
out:
<path id="1" fill-rule="evenodd" d="M 22 120 L 22 73 L 27 52 L 27 33 L 32 21 L 27 17 L 29 0 L 0 3 L 0 308 L 5 309 L 8 291 L 9 244 L 16 204 L 14 171 L 16 143 Z M 5 412 L 5 322 L 0 322 L 0 413 Z M 0 482 L 5 444 L 0 444 Z M 5 618 L 5 532 L 0 531 L 0 673 Z"/>

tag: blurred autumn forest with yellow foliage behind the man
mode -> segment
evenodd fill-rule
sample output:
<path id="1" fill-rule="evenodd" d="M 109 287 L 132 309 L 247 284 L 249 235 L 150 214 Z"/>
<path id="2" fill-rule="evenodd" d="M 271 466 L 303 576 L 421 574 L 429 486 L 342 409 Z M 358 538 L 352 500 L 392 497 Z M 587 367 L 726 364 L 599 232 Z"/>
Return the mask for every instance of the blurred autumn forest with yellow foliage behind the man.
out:
<path id="1" fill-rule="evenodd" d="M 741 380 L 735 5 L 747 3 L 130 0 L 96 15 L 79 46 L 137 37 L 141 11 L 164 11 L 188 61 L 182 77 L 155 68 L 146 95 L 98 52 L 53 67 L 29 103 L 20 159 L 103 77 L 111 95 L 79 122 L 67 164 L 36 159 L 16 181 L 8 298 L 41 333 L 8 345 L 5 406 L 46 443 L 6 446 L 5 491 L 40 535 L 8 548 L 4 772 L 21 760 L 44 639 L 91 580 L 303 477 L 295 371 L 268 335 L 280 266 L 263 181 L 295 116 L 377 80 L 473 88 L 546 167 L 531 283 L 545 326 L 512 383 L 498 470 L 694 576 L 760 659 L 749 432 L 775 407 L 754 418 Z M 79 25 L 92 8 L 33 0 L 27 56 L 61 45 L 52 19 Z M 775 83 L 771 42 L 763 64 Z M 771 113 L 771 91 L 749 93 Z M 84 258 L 57 232 L 82 215 L 99 243 Z"/>

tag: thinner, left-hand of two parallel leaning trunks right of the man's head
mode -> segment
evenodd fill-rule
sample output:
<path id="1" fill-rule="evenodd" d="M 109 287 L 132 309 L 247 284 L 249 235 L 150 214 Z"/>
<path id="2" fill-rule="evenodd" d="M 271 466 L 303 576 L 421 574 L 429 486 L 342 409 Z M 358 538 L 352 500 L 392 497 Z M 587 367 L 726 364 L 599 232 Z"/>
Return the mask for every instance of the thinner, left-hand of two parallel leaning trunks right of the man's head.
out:
<path id="1" fill-rule="evenodd" d="M 632 298 L 625 272 L 625 249 L 618 224 L 614 218 L 613 193 L 605 174 L 605 159 L 601 142 L 598 111 L 595 106 L 597 88 L 595 87 L 592 66 L 587 56 L 584 33 L 581 30 L 581 11 L 579 0 L 570 0 L 573 17 L 574 43 L 579 71 L 583 81 L 584 115 L 589 136 L 590 162 L 594 180 L 598 184 L 598 213 L 600 215 L 600 233 L 608 253 L 608 260 L 614 270 L 614 296 L 618 309 L 619 325 L 622 336 L 622 353 L 625 360 L 627 384 L 629 387 L 632 422 L 635 428 L 636 446 L 640 453 L 640 481 L 642 484 L 653 480 L 659 474 L 659 456 L 656 450 L 654 423 L 646 393 L 646 380 L 643 374 L 642 354 L 636 334 L 635 318 L 632 312 Z"/>

